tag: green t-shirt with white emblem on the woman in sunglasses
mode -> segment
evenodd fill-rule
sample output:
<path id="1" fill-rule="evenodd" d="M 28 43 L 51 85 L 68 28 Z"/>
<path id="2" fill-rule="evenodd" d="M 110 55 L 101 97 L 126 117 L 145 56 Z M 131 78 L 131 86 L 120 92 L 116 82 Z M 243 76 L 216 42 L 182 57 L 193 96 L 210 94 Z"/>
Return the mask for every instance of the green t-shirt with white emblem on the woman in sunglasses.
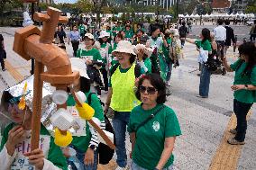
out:
<path id="1" fill-rule="evenodd" d="M 164 104 L 158 104 L 151 110 L 145 111 L 142 105 L 133 109 L 128 124 L 128 131 L 134 132 L 142 121 L 146 120 L 153 112 Z M 136 142 L 133 148 L 133 161 L 145 169 L 154 169 L 160 161 L 164 149 L 164 141 L 169 137 L 181 135 L 178 119 L 175 112 L 168 106 L 156 114 L 154 118 L 144 124 L 136 132 Z M 169 157 L 164 167 L 173 164 L 174 156 Z"/>

